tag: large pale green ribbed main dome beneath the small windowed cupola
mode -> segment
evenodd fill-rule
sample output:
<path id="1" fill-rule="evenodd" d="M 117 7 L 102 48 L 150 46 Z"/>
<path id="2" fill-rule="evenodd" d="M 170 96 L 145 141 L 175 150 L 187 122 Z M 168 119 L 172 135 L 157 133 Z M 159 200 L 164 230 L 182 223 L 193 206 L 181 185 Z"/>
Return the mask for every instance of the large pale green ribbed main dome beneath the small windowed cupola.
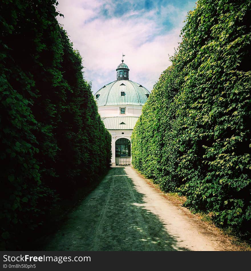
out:
<path id="1" fill-rule="evenodd" d="M 95 96 L 98 106 L 143 105 L 149 94 L 150 92 L 145 87 L 136 82 L 117 80 L 103 86 Z"/>

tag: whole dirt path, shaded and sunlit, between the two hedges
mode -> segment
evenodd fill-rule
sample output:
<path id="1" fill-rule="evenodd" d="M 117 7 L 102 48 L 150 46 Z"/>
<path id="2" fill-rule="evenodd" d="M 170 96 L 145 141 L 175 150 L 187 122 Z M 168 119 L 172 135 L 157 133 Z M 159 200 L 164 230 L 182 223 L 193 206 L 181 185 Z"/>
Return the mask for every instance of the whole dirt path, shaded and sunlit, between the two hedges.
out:
<path id="1" fill-rule="evenodd" d="M 42 250 L 234 250 L 186 212 L 133 167 L 114 167 Z"/>

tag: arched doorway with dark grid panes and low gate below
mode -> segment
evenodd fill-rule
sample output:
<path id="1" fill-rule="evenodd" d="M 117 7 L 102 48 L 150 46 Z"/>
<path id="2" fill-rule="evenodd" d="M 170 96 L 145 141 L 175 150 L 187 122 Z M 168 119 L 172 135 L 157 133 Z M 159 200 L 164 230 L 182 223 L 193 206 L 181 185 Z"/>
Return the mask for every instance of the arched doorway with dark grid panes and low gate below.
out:
<path id="1" fill-rule="evenodd" d="M 116 165 L 131 165 L 131 141 L 119 138 L 115 142 Z"/>

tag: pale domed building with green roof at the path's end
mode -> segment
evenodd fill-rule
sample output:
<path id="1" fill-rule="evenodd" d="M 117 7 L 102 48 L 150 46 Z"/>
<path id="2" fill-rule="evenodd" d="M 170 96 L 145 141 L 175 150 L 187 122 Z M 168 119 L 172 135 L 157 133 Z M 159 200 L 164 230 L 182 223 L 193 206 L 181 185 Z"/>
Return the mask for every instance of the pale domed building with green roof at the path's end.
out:
<path id="1" fill-rule="evenodd" d="M 129 80 L 129 68 L 124 60 L 116 71 L 117 80 L 104 85 L 94 97 L 106 129 L 112 135 L 112 165 L 130 165 L 131 134 L 150 92 Z"/>

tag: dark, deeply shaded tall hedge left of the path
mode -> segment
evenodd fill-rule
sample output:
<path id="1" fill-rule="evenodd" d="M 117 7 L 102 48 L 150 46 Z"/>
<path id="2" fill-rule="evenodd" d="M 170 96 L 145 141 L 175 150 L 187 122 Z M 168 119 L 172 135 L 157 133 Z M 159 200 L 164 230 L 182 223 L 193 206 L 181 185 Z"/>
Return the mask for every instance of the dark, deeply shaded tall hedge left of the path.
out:
<path id="1" fill-rule="evenodd" d="M 0 4 L 2 248 L 41 224 L 58 193 L 67 197 L 110 166 L 111 136 L 55 4 Z"/>

